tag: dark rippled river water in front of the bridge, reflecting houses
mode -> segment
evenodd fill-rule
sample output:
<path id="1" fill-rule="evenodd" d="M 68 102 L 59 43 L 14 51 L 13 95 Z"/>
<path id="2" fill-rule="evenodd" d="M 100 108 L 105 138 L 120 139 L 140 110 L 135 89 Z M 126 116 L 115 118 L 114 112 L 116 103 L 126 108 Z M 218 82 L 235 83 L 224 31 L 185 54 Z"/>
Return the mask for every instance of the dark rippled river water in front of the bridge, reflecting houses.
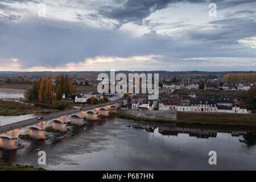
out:
<path id="1" fill-rule="evenodd" d="M 105 118 L 66 134 L 47 134 L 51 138 L 44 141 L 18 139 L 24 148 L 0 151 L 0 158 L 53 170 L 256 169 L 256 138 L 244 132 Z M 40 150 L 46 151 L 46 166 L 38 164 Z M 217 152 L 217 165 L 209 165 L 209 151 Z"/>

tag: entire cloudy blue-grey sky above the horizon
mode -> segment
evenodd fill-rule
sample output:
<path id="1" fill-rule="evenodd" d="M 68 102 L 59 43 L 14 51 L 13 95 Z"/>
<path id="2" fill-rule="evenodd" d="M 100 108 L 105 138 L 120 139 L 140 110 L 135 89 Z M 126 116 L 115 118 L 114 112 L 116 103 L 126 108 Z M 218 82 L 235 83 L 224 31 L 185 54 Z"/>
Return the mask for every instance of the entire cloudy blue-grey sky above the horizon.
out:
<path id="1" fill-rule="evenodd" d="M 0 71 L 110 69 L 255 71 L 256 1 L 0 0 Z"/>

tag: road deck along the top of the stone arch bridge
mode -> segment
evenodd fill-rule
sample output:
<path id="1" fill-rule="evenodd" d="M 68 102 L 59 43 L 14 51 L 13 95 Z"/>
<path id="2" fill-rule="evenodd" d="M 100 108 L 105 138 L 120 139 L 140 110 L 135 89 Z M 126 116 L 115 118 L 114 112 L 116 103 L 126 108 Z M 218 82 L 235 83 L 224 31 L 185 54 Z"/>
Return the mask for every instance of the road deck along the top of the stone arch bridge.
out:
<path id="1" fill-rule="evenodd" d="M 92 106 L 82 107 L 82 110 L 77 110 L 77 109 L 63 110 L 63 111 L 59 111 L 57 113 L 51 113 L 51 114 L 43 115 L 43 119 L 40 120 L 40 121 L 48 120 L 48 119 L 54 119 L 54 118 L 57 118 L 57 117 L 61 117 L 62 115 L 74 114 L 74 113 L 77 113 L 77 112 L 80 112 L 80 111 L 92 110 L 94 108 L 104 107 L 106 105 L 113 105 L 115 103 L 119 103 L 119 102 L 122 102 L 122 101 L 123 100 L 111 101 L 111 102 L 105 102 L 105 103 L 102 103 L 102 104 L 96 104 L 96 105 L 92 105 Z M 38 123 L 38 117 L 31 118 L 31 119 L 26 119 L 26 120 L 15 122 L 15 123 L 11 123 L 11 124 L 8 124 L 8 125 L 3 125 L 3 126 L 0 126 L 0 133 L 5 133 L 5 132 L 10 131 L 10 130 L 14 130 L 14 129 L 18 129 L 20 127 L 33 125 L 33 124 L 36 124 L 36 123 Z"/>

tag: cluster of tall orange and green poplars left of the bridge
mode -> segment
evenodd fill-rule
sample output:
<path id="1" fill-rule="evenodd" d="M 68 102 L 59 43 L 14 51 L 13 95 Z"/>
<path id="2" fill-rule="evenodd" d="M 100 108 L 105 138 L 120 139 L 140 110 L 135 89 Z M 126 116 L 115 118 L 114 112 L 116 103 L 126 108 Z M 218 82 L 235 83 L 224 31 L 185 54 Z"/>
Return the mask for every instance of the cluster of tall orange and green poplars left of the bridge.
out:
<path id="1" fill-rule="evenodd" d="M 71 94 L 77 93 L 77 85 L 72 85 L 69 81 L 68 75 L 57 75 L 55 84 L 52 83 L 51 77 L 40 76 L 39 80 L 34 80 L 32 86 L 27 89 L 25 97 L 28 101 L 39 101 L 46 104 L 52 104 L 53 101 L 60 101 Z"/>

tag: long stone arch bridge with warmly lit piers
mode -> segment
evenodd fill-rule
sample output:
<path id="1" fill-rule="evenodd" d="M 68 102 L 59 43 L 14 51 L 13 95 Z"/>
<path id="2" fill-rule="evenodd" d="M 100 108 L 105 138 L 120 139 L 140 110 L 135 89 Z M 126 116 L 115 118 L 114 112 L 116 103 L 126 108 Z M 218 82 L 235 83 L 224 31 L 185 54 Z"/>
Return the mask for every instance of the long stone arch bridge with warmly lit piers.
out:
<path id="1" fill-rule="evenodd" d="M 38 118 L 27 119 L 20 122 L 3 125 L 0 127 L 0 148 L 4 150 L 16 150 L 21 146 L 16 144 L 20 133 L 29 130 L 31 138 L 46 139 L 44 129 L 52 125 L 52 128 L 59 131 L 67 131 L 67 122 L 75 125 L 84 125 L 84 118 L 89 120 L 98 119 L 98 115 L 109 115 L 109 110 L 118 109 L 122 100 L 106 102 L 93 106 L 83 107 L 81 110 L 67 110 L 45 115 L 38 121 Z"/>

